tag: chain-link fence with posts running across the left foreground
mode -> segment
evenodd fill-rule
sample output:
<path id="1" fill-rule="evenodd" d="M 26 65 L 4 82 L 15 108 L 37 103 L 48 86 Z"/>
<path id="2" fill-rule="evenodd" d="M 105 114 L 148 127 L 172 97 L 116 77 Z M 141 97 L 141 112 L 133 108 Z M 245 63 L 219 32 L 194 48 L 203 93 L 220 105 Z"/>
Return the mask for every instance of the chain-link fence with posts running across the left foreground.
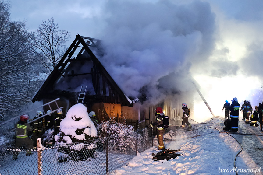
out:
<path id="1" fill-rule="evenodd" d="M 31 153 L 26 147 L 2 145 L 0 175 L 108 174 L 127 164 L 137 153 L 149 149 L 152 143 L 152 128 L 144 128 L 132 135 L 121 134 L 49 147 L 40 145 Z"/>

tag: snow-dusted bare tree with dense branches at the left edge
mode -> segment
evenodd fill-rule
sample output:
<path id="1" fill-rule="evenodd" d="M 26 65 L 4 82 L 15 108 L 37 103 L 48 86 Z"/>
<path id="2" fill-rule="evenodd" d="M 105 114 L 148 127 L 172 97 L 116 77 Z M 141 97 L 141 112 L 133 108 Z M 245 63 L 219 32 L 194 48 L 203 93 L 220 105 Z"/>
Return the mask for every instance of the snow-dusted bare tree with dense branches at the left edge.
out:
<path id="1" fill-rule="evenodd" d="M 9 8 L 0 0 L 0 120 L 17 115 L 41 85 L 32 69 L 37 57 L 30 33 L 25 21 L 10 21 Z"/>

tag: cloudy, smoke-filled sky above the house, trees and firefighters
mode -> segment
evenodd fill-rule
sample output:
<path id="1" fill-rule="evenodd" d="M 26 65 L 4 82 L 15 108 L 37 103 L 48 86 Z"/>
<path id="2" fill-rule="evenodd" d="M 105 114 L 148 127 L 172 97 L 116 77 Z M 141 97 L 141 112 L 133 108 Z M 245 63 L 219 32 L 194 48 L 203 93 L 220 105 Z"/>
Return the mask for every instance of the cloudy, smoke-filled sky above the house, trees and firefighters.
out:
<path id="1" fill-rule="evenodd" d="M 10 4 L 11 18 L 26 20 L 29 30 L 54 17 L 61 29 L 71 32 L 68 46 L 77 33 L 103 40 L 107 54 L 99 59 L 128 95 L 137 95 L 145 85 L 157 93 L 158 79 L 171 73 L 181 77 L 191 73 L 207 98 L 217 94 L 211 100 L 223 102 L 234 96 L 239 101 L 250 98 L 250 89 L 262 84 L 262 0 L 10 0 Z M 183 79 L 170 81 L 177 89 L 187 89 Z"/>

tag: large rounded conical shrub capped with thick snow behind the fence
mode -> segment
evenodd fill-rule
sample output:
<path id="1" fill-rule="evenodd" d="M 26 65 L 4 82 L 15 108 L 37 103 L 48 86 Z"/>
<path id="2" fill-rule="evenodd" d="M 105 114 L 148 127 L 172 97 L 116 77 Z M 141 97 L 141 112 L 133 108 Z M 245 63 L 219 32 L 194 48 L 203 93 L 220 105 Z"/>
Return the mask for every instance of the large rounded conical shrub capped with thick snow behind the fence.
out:
<path id="1" fill-rule="evenodd" d="M 87 108 L 78 103 L 72 106 L 66 114 L 66 118 L 60 123 L 60 132 L 55 135 L 56 144 L 63 145 L 58 150 L 66 154 L 60 155 L 60 162 L 67 160 L 89 160 L 94 158 L 96 144 L 84 142 L 94 140 L 97 137 L 97 130 L 94 123 L 88 116 Z"/>

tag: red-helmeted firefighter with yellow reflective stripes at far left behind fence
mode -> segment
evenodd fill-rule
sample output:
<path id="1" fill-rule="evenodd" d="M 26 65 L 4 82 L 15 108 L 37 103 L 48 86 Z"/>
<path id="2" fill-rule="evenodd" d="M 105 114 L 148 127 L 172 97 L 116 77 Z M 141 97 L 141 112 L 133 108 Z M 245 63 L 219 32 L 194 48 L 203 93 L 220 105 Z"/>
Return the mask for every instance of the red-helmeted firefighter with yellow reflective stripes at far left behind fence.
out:
<path id="1" fill-rule="evenodd" d="M 32 128 L 27 123 L 29 116 L 24 114 L 20 116 L 20 120 L 15 124 L 16 128 L 16 147 L 19 148 L 22 145 L 27 145 L 26 156 L 32 155 L 31 149 L 33 149 L 33 141 L 29 138 L 32 134 Z M 13 152 L 13 160 L 17 159 L 17 151 Z"/>

